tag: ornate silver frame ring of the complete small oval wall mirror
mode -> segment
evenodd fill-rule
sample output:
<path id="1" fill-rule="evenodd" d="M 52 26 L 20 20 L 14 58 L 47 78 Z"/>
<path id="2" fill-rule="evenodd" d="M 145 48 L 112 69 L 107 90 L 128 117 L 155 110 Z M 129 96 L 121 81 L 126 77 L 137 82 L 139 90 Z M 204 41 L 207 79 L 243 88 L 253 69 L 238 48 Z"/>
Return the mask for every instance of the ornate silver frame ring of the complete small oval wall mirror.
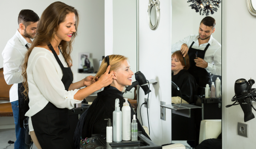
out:
<path id="1" fill-rule="evenodd" d="M 157 21 L 156 24 L 154 26 L 152 26 L 151 24 L 151 20 L 150 20 L 150 13 L 151 13 L 151 9 L 152 7 L 155 6 L 156 8 L 156 13 L 157 13 Z M 150 29 L 152 30 L 156 30 L 158 25 L 159 25 L 159 21 L 160 21 L 160 1 L 159 0 L 149 0 L 148 1 L 148 25 L 150 27 Z"/>

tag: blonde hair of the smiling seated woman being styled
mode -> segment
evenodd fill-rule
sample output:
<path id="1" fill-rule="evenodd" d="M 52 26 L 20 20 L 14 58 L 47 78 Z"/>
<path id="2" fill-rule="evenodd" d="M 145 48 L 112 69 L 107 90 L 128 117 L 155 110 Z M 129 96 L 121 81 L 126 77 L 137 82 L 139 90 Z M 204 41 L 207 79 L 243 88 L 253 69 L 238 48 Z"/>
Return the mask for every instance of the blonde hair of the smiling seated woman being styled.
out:
<path id="1" fill-rule="evenodd" d="M 127 60 L 128 58 L 122 55 L 109 55 L 109 64 L 110 64 L 110 71 L 116 71 L 123 63 L 124 60 Z M 99 70 L 93 80 L 96 79 L 96 77 L 100 77 L 102 74 L 104 74 L 107 70 L 108 63 L 105 61 L 106 59 L 102 60 L 101 65 L 99 66 Z"/>

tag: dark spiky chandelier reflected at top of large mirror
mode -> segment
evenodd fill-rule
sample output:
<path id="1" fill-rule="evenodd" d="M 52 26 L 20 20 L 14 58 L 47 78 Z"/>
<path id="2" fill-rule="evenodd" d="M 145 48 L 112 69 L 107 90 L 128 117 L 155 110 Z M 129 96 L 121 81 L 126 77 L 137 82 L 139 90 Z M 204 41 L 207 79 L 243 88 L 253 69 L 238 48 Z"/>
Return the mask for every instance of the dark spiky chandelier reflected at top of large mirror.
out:
<path id="1" fill-rule="evenodd" d="M 209 13 L 214 14 L 214 11 L 217 12 L 217 7 L 219 8 L 219 3 L 221 0 L 188 0 L 188 3 L 192 3 L 191 9 L 195 9 L 195 12 L 199 12 L 200 15 L 208 16 Z"/>

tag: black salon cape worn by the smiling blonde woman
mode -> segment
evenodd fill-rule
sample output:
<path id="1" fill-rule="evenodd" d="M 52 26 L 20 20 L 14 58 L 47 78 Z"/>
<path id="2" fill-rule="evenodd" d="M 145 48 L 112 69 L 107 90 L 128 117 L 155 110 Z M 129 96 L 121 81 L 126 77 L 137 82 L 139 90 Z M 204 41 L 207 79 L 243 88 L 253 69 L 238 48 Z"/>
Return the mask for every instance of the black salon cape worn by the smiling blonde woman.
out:
<path id="1" fill-rule="evenodd" d="M 76 126 L 74 135 L 75 147 L 79 149 L 79 143 L 82 137 L 90 138 L 92 134 L 103 134 L 106 135 L 107 120 L 111 118 L 113 124 L 113 111 L 115 110 L 115 100 L 119 98 L 119 106 L 122 111 L 123 103 L 125 99 L 122 96 L 122 92 L 117 89 L 105 89 L 97 94 L 98 96 L 93 101 L 91 106 L 81 115 L 80 120 Z M 130 107 L 131 103 L 128 101 Z M 133 119 L 134 110 L 131 107 L 131 120 Z M 138 123 L 138 131 L 141 131 L 147 138 L 148 135 L 145 133 L 140 121 L 136 117 Z M 150 138 L 149 138 L 150 139 Z"/>

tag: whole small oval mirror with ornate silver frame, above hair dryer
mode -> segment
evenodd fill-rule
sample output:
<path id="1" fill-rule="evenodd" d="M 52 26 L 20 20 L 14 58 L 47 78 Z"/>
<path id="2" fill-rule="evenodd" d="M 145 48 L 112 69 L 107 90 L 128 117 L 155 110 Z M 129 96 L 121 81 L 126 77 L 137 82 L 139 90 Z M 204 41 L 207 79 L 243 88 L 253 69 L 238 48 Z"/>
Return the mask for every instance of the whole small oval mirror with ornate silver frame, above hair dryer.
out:
<path id="1" fill-rule="evenodd" d="M 156 30 L 160 21 L 159 0 L 149 0 L 148 2 L 148 25 L 150 29 Z"/>

